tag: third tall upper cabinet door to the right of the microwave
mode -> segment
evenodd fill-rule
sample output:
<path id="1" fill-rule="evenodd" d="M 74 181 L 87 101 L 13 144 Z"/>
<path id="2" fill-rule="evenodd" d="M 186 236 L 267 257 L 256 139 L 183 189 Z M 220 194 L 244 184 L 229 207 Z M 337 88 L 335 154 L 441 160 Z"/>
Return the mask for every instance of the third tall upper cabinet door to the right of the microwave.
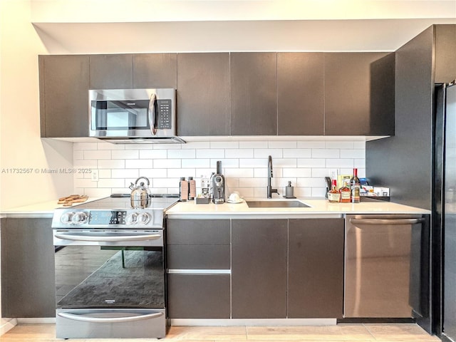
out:
<path id="1" fill-rule="evenodd" d="M 279 135 L 324 134 L 323 53 L 277 53 Z"/>

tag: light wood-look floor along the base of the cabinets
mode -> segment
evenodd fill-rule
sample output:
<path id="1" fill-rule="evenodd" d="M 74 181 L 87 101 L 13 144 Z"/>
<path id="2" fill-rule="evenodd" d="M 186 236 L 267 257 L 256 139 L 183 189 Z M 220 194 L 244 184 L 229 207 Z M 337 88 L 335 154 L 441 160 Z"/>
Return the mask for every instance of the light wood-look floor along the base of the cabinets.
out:
<path id="1" fill-rule="evenodd" d="M 0 336 L 0 342 L 142 342 L 140 339 L 76 339 L 55 338 L 54 324 L 23 324 Z M 337 326 L 172 326 L 160 341 L 179 342 L 438 342 L 415 324 L 338 324 Z"/>

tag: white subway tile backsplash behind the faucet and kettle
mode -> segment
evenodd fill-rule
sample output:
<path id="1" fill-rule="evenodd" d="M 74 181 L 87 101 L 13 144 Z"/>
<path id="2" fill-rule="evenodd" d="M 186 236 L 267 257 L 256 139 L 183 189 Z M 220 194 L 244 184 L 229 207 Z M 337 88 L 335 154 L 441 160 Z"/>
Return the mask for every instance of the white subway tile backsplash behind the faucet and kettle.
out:
<path id="1" fill-rule="evenodd" d="M 98 181 L 90 174 L 75 174 L 75 193 L 91 197 L 129 193 L 130 182 L 149 178 L 152 192 L 179 192 L 180 177 L 194 177 L 197 191 L 202 175 L 210 177 L 217 161 L 227 181 L 227 195 L 237 191 L 242 197 L 266 197 L 267 157 L 272 156 L 271 185 L 284 195 L 291 181 L 297 197 L 323 197 L 324 177 L 331 171 L 358 177 L 366 174 L 366 142 L 361 140 L 203 141 L 166 145 L 113 145 L 108 142 L 73 144 L 73 165 L 98 171 Z M 274 194 L 274 197 L 281 197 Z"/>

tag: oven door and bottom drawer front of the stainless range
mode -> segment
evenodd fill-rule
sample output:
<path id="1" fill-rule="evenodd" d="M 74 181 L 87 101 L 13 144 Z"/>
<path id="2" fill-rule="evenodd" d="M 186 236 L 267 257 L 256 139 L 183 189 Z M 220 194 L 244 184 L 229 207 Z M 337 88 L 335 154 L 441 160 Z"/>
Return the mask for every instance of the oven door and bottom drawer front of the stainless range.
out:
<path id="1" fill-rule="evenodd" d="M 162 233 L 54 229 L 57 337 L 165 337 Z"/>

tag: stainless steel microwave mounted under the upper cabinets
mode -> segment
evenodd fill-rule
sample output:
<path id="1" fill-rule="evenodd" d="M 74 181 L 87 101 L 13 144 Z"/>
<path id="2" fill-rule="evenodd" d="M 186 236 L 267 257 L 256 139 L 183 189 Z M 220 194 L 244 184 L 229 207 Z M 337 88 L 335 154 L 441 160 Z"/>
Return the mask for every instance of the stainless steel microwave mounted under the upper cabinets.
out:
<path id="1" fill-rule="evenodd" d="M 176 136 L 175 89 L 89 90 L 89 135 L 113 143 L 185 142 Z"/>

